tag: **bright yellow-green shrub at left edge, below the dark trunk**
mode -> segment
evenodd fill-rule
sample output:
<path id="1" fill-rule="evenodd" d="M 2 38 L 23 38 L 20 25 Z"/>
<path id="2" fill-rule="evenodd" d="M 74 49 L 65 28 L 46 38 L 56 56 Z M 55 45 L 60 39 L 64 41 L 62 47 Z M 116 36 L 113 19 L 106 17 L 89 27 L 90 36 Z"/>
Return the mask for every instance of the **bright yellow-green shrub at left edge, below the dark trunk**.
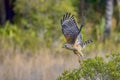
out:
<path id="1" fill-rule="evenodd" d="M 34 50 L 40 42 L 33 29 L 24 30 L 9 22 L 3 28 L 0 28 L 0 39 L 1 47 L 14 47 L 22 50 L 26 48 Z"/>

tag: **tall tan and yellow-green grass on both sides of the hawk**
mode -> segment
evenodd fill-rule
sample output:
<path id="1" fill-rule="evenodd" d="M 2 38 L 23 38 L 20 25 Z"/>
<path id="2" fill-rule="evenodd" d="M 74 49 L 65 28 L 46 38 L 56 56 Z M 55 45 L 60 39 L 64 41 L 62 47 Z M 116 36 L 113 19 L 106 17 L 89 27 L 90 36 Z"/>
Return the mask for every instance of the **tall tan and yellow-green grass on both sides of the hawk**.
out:
<path id="1" fill-rule="evenodd" d="M 117 41 L 112 39 L 105 43 L 94 41 L 88 45 L 83 50 L 85 59 L 118 53 L 119 37 Z M 35 52 L 3 45 L 5 42 L 1 42 L 0 46 L 0 80 L 55 80 L 64 70 L 79 67 L 77 56 L 72 51 L 62 49 L 61 45 L 54 49 L 37 49 Z"/>

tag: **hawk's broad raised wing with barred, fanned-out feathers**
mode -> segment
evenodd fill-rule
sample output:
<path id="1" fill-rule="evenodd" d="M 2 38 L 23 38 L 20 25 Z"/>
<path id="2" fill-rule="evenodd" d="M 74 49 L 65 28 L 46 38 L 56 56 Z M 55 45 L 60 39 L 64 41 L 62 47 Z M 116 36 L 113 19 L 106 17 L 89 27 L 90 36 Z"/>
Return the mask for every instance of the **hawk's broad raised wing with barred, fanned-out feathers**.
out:
<path id="1" fill-rule="evenodd" d="M 80 30 L 77 27 L 73 15 L 66 13 L 61 19 L 62 32 L 68 43 L 74 44 Z"/>

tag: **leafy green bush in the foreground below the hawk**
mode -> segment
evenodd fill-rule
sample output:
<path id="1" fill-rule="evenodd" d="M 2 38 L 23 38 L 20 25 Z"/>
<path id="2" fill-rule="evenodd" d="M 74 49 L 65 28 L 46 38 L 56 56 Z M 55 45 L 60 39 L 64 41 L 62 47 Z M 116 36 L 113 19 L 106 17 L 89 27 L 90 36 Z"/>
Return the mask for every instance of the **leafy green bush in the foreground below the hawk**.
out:
<path id="1" fill-rule="evenodd" d="M 78 69 L 64 71 L 57 80 L 119 80 L 120 54 L 113 54 L 104 61 L 101 57 L 84 60 Z"/>

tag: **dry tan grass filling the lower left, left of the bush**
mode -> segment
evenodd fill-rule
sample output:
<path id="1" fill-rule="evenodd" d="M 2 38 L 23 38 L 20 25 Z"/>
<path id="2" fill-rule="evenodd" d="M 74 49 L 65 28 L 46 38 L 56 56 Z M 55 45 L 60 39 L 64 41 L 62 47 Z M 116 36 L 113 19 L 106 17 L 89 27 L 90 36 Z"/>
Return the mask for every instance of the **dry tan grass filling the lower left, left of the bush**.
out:
<path id="1" fill-rule="evenodd" d="M 1 54 L 6 52 L 12 53 L 12 49 Z M 66 58 L 64 54 L 55 56 L 49 50 L 35 55 L 25 53 L 16 50 L 14 54 L 1 55 L 0 80 L 55 80 L 65 69 L 78 65 L 74 63 L 74 54 Z"/>

